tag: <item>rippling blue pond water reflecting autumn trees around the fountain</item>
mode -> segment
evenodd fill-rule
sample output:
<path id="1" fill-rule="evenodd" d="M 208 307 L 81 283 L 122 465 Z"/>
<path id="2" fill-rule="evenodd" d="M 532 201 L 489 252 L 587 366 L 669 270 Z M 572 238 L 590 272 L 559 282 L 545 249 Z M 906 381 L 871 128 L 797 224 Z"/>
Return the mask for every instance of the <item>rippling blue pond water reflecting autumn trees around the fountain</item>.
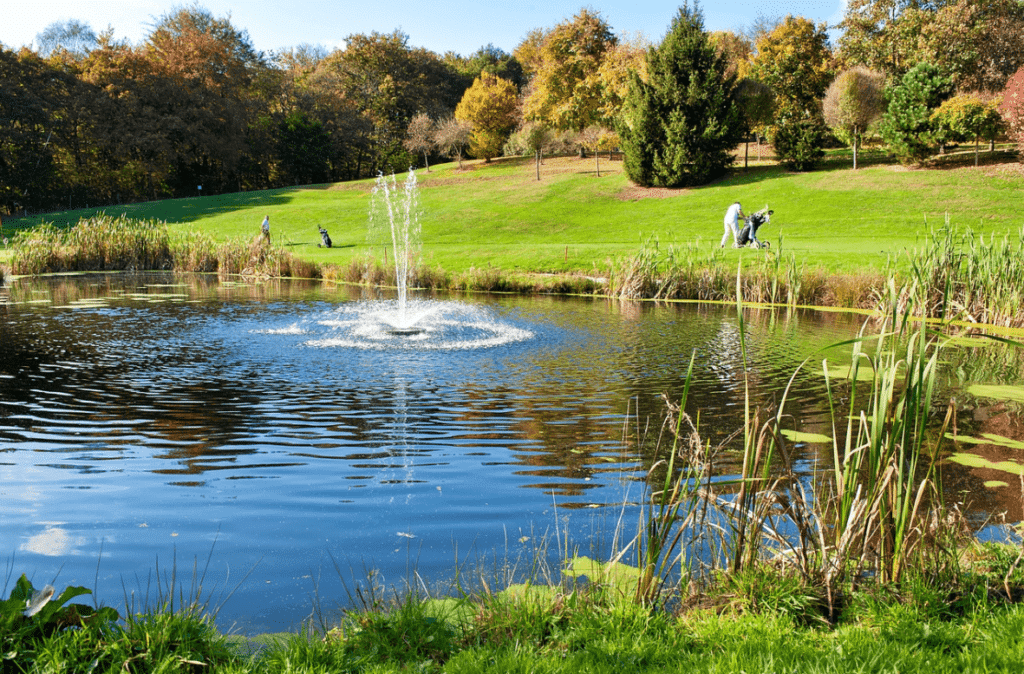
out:
<path id="1" fill-rule="evenodd" d="M 734 306 L 419 296 L 459 330 L 417 341 L 353 337 L 390 300 L 312 282 L 91 275 L 20 280 L 7 295 L 8 571 L 117 606 L 209 564 L 204 592 L 226 596 L 218 624 L 247 633 L 295 629 L 368 577 L 443 583 L 462 564 L 556 554 L 566 536 L 607 556 L 623 522 L 635 526 L 691 355 L 688 409 L 712 443 L 737 445 L 744 381 L 756 404 L 777 402 L 809 356 L 786 410 L 796 430 L 829 434 L 820 349 L 866 320 L 748 309 L 744 380 Z M 953 379 L 972 363 L 986 381 L 1019 378 L 1019 364 L 952 361 Z M 1002 407 L 970 409 L 958 433 L 1024 435 Z M 807 473 L 830 461 L 829 446 L 798 448 Z M 728 473 L 738 455 L 722 456 Z M 1020 495 L 986 492 L 984 466 L 951 465 L 947 494 L 976 493 L 976 521 L 1020 518 Z"/>

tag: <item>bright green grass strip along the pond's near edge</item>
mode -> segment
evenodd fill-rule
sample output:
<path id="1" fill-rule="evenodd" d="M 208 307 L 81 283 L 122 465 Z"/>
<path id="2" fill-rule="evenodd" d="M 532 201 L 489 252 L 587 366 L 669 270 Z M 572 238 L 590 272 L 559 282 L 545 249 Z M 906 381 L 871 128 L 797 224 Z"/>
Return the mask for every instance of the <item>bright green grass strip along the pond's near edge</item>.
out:
<path id="1" fill-rule="evenodd" d="M 681 613 L 644 608 L 600 584 L 407 596 L 351 612 L 328 631 L 253 638 L 224 637 L 187 609 L 157 610 L 22 642 L 8 631 L 0 671 L 936 674 L 1019 672 L 1024 662 L 1024 607 L 979 576 L 859 592 L 829 625 L 807 609 L 813 593 L 800 583 L 758 573 L 760 584 L 723 584 L 705 597 L 713 607 Z"/>

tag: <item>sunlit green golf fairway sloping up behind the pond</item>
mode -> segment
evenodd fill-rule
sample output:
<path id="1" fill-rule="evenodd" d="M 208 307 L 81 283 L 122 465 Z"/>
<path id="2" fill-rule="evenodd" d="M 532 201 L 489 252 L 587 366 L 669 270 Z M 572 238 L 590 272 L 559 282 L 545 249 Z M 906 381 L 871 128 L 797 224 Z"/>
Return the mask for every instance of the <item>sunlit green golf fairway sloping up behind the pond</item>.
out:
<path id="1" fill-rule="evenodd" d="M 717 246 L 722 216 L 734 201 L 748 213 L 770 206 L 775 215 L 761 238 L 777 250 L 781 237 L 787 255 L 796 255 L 808 268 L 833 273 L 882 269 L 889 255 L 922 246 L 929 229 L 941 226 L 947 216 L 953 225 L 978 234 L 1019 231 L 1016 197 L 1024 186 L 1024 173 L 1016 160 L 996 154 L 980 168 L 956 157 L 946 161 L 947 166 L 928 169 L 874 164 L 853 171 L 837 153 L 831 168 L 820 171 L 791 173 L 773 165 L 735 168 L 714 184 L 686 189 L 635 187 L 626 179 L 622 162 L 606 159 L 600 177 L 592 158 L 547 159 L 541 180 L 531 160 L 466 162 L 461 170 L 444 164 L 417 174 L 423 261 L 449 271 L 487 266 L 536 272 L 603 270 L 610 259 L 636 252 L 652 237 L 663 248 Z M 373 185 L 362 180 L 20 219 L 8 216 L 4 231 L 9 235 L 43 220 L 72 224 L 103 210 L 228 239 L 255 236 L 263 216 L 269 215 L 274 242 L 315 262 L 343 264 L 369 250 Z M 330 231 L 334 249 L 316 247 L 317 226 Z"/>

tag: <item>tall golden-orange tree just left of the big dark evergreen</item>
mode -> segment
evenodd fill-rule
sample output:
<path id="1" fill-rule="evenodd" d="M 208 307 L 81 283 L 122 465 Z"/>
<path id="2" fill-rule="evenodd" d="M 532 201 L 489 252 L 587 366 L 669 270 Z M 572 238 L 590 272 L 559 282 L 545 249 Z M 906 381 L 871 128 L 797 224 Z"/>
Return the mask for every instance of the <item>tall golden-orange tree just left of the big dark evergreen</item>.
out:
<path id="1" fill-rule="evenodd" d="M 600 122 L 598 71 L 616 43 L 605 20 L 590 9 L 556 26 L 541 46 L 534 87 L 523 104 L 525 118 L 575 131 Z"/>

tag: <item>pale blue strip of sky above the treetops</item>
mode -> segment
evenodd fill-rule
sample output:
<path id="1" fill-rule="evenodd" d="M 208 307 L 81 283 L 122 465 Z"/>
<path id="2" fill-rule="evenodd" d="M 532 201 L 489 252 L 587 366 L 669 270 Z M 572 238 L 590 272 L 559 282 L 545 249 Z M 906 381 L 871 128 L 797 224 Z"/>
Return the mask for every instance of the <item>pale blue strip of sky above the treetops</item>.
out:
<path id="1" fill-rule="evenodd" d="M 11 4 L 13 6 L 11 6 Z M 164 14 L 193 0 L 6 0 L 0 18 L 0 43 L 8 49 L 36 46 L 36 36 L 54 22 L 78 19 L 95 33 L 113 28 L 116 39 L 139 43 Z M 300 44 L 345 46 L 357 33 L 409 35 L 412 47 L 443 54 L 468 55 L 494 44 L 507 52 L 538 28 L 552 28 L 583 7 L 597 10 L 616 34 L 641 33 L 657 42 L 669 29 L 681 2 L 654 0 L 199 0 L 215 16 L 230 16 L 249 32 L 259 51 L 281 51 Z M 759 15 L 794 14 L 835 25 L 843 17 L 844 0 L 718 0 L 703 2 L 710 31 L 741 30 Z"/>

